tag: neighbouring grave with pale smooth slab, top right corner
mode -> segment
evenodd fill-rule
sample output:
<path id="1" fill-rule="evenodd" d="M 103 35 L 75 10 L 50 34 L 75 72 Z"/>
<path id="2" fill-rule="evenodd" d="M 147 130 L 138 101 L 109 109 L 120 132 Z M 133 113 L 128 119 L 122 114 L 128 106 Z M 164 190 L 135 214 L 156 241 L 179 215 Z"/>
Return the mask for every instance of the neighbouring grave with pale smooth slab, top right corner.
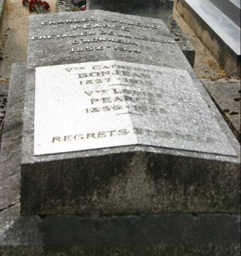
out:
<path id="1" fill-rule="evenodd" d="M 241 1 L 175 0 L 174 6 L 219 65 L 240 76 Z"/>

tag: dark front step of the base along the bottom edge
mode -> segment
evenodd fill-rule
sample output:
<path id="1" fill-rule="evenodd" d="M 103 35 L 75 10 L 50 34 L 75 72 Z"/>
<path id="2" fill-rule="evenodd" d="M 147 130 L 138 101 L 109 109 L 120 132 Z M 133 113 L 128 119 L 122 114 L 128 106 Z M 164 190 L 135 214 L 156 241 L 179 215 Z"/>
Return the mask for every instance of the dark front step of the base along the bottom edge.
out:
<path id="1" fill-rule="evenodd" d="M 7 211 L 5 221 L 11 219 L 10 216 L 13 218 L 14 209 Z M 18 216 L 11 219 L 6 230 L 0 233 L 0 254 L 179 256 L 198 253 L 239 256 L 239 225 L 239 216 L 225 214 Z"/>

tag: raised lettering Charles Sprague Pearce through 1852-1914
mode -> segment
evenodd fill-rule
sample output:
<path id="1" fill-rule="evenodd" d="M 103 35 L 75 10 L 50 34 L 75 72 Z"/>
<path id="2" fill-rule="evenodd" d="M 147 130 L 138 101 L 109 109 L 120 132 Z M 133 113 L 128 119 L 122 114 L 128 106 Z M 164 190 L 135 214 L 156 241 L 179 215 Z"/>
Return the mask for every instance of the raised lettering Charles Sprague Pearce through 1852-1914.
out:
<path id="1" fill-rule="evenodd" d="M 118 52 L 142 53 L 143 42 L 175 44 L 171 37 L 152 35 L 152 31 L 160 30 L 160 25 L 151 22 L 125 21 L 116 18 L 84 17 L 80 19 L 46 20 L 42 26 L 53 28 L 51 34 L 42 32 L 30 37 L 31 41 L 70 40 L 73 47 L 70 53 L 101 51 L 112 49 Z M 54 33 L 57 26 L 66 26 L 61 33 Z M 133 28 L 142 28 L 141 34 L 133 33 Z M 65 31 L 66 30 L 66 31 Z M 104 44 L 103 44 L 104 43 Z"/>

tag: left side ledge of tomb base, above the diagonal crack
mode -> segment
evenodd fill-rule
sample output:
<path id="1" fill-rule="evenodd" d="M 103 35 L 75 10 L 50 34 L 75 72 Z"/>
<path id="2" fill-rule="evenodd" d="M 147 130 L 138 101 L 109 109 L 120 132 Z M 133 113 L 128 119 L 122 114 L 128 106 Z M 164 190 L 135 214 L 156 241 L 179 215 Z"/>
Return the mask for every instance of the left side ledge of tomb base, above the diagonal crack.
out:
<path id="1" fill-rule="evenodd" d="M 19 202 L 26 64 L 13 64 L 0 151 L 0 211 Z"/>

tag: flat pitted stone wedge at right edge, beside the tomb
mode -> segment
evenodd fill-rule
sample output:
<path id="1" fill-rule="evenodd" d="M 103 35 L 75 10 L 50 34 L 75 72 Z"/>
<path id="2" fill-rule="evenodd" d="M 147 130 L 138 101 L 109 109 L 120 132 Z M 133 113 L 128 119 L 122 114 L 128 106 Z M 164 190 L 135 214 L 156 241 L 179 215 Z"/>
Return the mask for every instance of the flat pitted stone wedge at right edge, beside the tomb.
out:
<path id="1" fill-rule="evenodd" d="M 202 80 L 236 138 L 241 142 L 240 80 Z"/>

